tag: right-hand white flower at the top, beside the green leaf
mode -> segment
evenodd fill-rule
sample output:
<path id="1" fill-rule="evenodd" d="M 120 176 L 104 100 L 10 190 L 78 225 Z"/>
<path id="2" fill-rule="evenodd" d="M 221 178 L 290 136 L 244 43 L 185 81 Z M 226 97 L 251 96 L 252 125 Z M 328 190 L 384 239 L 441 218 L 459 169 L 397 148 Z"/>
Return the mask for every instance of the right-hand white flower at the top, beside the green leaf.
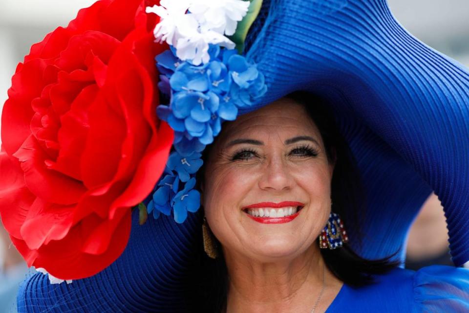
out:
<path id="1" fill-rule="evenodd" d="M 202 31 L 213 30 L 231 36 L 237 22 L 246 16 L 250 1 L 244 0 L 195 0 L 189 11 L 197 16 Z"/>

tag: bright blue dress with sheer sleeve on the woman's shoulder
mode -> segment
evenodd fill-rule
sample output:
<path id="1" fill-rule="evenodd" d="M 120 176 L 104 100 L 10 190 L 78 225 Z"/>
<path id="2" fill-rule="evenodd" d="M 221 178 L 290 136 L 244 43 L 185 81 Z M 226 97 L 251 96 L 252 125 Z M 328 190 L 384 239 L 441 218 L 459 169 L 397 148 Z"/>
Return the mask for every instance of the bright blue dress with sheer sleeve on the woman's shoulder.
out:
<path id="1" fill-rule="evenodd" d="M 363 288 L 343 285 L 326 313 L 469 312 L 469 269 L 434 265 L 396 268 Z"/>

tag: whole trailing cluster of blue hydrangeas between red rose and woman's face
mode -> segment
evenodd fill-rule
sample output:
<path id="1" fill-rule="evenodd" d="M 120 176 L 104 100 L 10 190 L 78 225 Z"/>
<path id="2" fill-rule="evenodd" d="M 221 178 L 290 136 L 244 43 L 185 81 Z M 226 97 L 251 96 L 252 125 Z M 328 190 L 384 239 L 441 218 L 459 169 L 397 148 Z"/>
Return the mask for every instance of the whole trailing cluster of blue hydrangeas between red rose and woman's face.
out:
<path id="1" fill-rule="evenodd" d="M 162 73 L 158 87 L 170 97 L 169 106 L 158 106 L 157 114 L 174 130 L 175 151 L 148 205 L 155 218 L 169 215 L 172 207 L 174 220 L 183 223 L 187 212 L 198 210 L 193 176 L 202 166 L 201 152 L 220 133 L 223 121 L 235 120 L 239 109 L 252 106 L 267 90 L 256 65 L 236 50 L 210 45 L 209 55 L 210 62 L 198 66 L 178 59 L 172 46 L 156 57 Z M 180 191 L 179 181 L 186 182 Z"/>

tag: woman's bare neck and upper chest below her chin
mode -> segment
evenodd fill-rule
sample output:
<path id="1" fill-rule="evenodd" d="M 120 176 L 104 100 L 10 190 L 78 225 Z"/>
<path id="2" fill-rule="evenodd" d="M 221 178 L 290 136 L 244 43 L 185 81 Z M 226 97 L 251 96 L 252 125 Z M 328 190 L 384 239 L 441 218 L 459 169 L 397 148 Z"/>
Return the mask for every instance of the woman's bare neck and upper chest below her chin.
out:
<path id="1" fill-rule="evenodd" d="M 255 262 L 227 251 L 225 259 L 229 275 L 227 313 L 309 313 L 320 295 L 324 270 L 325 288 L 329 286 L 330 290 L 321 300 L 327 306 L 342 285 L 325 266 L 316 245 L 293 259 L 278 262 Z M 332 299 L 325 299 L 330 296 Z M 322 307 L 318 305 L 315 312 L 321 312 Z"/>

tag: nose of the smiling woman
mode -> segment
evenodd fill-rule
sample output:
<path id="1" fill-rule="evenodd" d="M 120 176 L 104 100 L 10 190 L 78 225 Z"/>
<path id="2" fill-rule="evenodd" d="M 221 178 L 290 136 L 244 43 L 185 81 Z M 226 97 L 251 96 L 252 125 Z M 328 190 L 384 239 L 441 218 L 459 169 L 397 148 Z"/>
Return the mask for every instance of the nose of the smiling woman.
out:
<path id="1" fill-rule="evenodd" d="M 264 190 L 288 190 L 294 184 L 294 179 L 288 169 L 288 165 L 281 157 L 270 159 L 263 167 L 263 173 L 259 179 L 259 187 Z"/>

